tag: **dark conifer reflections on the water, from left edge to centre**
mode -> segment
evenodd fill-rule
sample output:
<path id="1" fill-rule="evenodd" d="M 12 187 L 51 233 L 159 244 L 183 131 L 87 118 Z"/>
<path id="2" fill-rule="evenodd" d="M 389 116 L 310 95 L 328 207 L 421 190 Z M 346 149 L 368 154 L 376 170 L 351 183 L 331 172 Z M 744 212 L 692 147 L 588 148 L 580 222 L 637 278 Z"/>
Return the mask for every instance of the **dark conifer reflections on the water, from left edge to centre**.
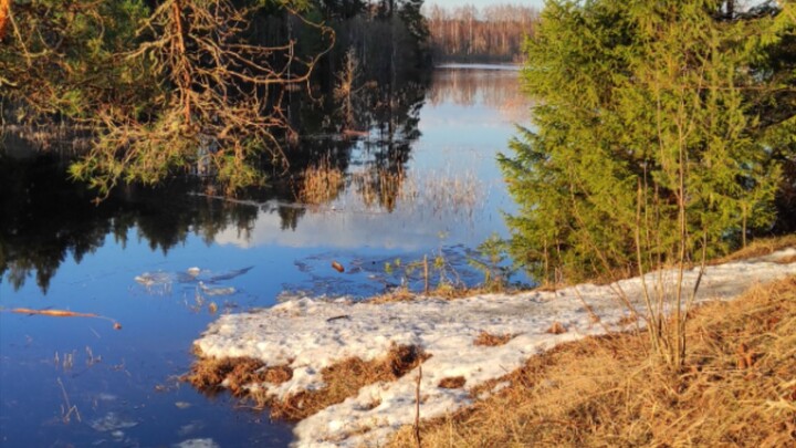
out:
<path id="1" fill-rule="evenodd" d="M 356 163 L 365 164 L 368 169 L 399 173 L 409 158 L 409 139 L 419 135 L 418 113 L 426 90 L 413 84 L 397 92 L 391 100 L 374 95 L 371 100 L 378 107 L 370 104 L 360 111 L 363 123 L 378 129 L 377 140 L 366 144 L 339 137 L 310 138 L 311 133 L 304 134 L 307 138 L 290 152 L 290 173 L 274 168 L 271 188 L 243 192 L 243 198 L 254 205 L 196 195 L 203 189 L 201 180 L 175 178 L 157 189 L 119 187 L 108 199 L 94 206 L 93 192 L 67 179 L 66 159 L 24 147 L 21 142 L 7 140 L 8 147 L 0 147 L 0 281 L 7 279 L 14 289 L 20 289 L 35 272 L 36 284 L 46 293 L 51 279 L 67 256 L 80 262 L 85 254 L 101 248 L 108 235 L 124 246 L 133 228 L 151 250 L 164 253 L 185 242 L 191 233 L 207 243 L 229 228 L 245 235 L 258 218 L 255 205 L 271 199 L 281 204 L 293 201 L 291 177 L 323 157 L 343 170 Z M 316 113 L 323 114 L 323 111 Z M 305 125 L 312 123 L 313 114 L 306 117 Z M 322 121 L 316 123 L 316 132 L 323 132 Z M 363 146 L 367 146 L 367 160 L 352 160 L 353 149 Z M 394 189 L 386 189 L 379 204 L 391 209 L 395 197 Z M 279 206 L 276 212 L 283 230 L 295 230 L 306 210 Z"/>

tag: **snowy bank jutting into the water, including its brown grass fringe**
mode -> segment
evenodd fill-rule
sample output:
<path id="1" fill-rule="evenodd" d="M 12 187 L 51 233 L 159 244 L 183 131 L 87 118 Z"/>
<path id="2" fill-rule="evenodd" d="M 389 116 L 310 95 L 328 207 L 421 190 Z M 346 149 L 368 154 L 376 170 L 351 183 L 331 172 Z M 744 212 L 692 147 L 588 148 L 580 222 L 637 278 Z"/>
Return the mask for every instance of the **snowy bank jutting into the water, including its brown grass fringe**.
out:
<path id="1" fill-rule="evenodd" d="M 761 282 L 796 275 L 794 256 L 790 248 L 708 267 L 698 301 L 734 299 Z M 695 269 L 687 272 L 687 283 L 695 280 Z M 453 421 L 446 415 L 506 394 L 512 382 L 502 378 L 544 358 L 534 355 L 632 329 L 619 290 L 641 300 L 640 279 L 455 302 L 302 298 L 220 317 L 195 343 L 200 361 L 188 377 L 205 390 L 229 387 L 276 416 L 303 418 L 295 429 L 300 446 L 384 444 L 418 414 Z"/>

